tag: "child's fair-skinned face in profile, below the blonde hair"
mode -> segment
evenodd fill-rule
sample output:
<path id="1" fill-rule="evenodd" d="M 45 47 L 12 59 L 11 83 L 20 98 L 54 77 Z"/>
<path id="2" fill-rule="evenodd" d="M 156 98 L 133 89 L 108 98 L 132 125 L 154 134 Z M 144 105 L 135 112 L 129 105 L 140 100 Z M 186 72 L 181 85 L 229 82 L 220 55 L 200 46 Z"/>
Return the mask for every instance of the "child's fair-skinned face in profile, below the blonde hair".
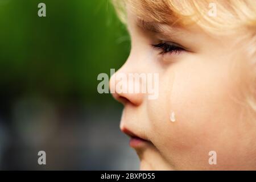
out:
<path id="1" fill-rule="evenodd" d="M 159 97 L 113 95 L 125 105 L 121 130 L 150 141 L 131 144 L 141 169 L 256 169 L 255 122 L 246 120 L 239 104 L 246 68 L 236 65 L 244 57 L 237 35 L 210 36 L 197 26 L 165 26 L 160 34 L 156 24 L 139 23 L 128 13 L 131 52 L 115 75 L 159 73 Z M 166 42 L 185 49 L 152 47 Z M 210 151 L 217 164 L 209 164 Z"/>

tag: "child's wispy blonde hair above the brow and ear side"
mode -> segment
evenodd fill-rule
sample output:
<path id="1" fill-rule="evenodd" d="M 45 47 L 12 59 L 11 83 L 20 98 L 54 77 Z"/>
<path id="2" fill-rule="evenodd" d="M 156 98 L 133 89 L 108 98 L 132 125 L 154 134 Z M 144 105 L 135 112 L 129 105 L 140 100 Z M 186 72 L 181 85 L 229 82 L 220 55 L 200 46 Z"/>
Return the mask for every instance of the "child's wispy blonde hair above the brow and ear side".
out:
<path id="1" fill-rule="evenodd" d="M 226 31 L 243 32 L 246 55 L 251 69 L 246 81 L 246 103 L 256 114 L 256 1 L 255 0 L 112 0 L 117 14 L 126 23 L 126 9 L 147 22 L 185 27 L 196 23 L 214 34 Z M 216 16 L 210 16 L 213 5 Z M 244 33 L 246 32 L 246 33 Z M 249 94 L 248 94 L 249 92 Z"/>

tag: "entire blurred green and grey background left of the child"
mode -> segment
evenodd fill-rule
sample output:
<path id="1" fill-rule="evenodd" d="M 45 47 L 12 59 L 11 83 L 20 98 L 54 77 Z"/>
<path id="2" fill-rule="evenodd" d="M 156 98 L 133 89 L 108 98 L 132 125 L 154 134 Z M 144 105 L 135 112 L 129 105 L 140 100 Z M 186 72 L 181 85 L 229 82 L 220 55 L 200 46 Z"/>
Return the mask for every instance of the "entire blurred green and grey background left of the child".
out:
<path id="1" fill-rule="evenodd" d="M 109 0 L 0 0 L 0 169 L 138 169 L 122 105 L 97 92 L 129 49 Z"/>

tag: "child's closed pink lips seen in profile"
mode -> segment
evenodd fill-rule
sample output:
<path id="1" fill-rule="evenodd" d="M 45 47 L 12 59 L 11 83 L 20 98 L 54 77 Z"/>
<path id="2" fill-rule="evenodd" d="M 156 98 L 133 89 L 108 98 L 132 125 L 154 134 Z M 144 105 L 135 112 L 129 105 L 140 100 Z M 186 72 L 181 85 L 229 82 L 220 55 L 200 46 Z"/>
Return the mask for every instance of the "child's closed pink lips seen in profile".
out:
<path id="1" fill-rule="evenodd" d="M 130 137 L 129 145 L 132 148 L 142 148 L 142 147 L 147 146 L 148 144 L 152 144 L 149 140 L 139 137 L 138 135 L 134 134 L 129 129 L 123 128 L 121 130 L 123 133 L 128 135 L 128 137 Z"/>

